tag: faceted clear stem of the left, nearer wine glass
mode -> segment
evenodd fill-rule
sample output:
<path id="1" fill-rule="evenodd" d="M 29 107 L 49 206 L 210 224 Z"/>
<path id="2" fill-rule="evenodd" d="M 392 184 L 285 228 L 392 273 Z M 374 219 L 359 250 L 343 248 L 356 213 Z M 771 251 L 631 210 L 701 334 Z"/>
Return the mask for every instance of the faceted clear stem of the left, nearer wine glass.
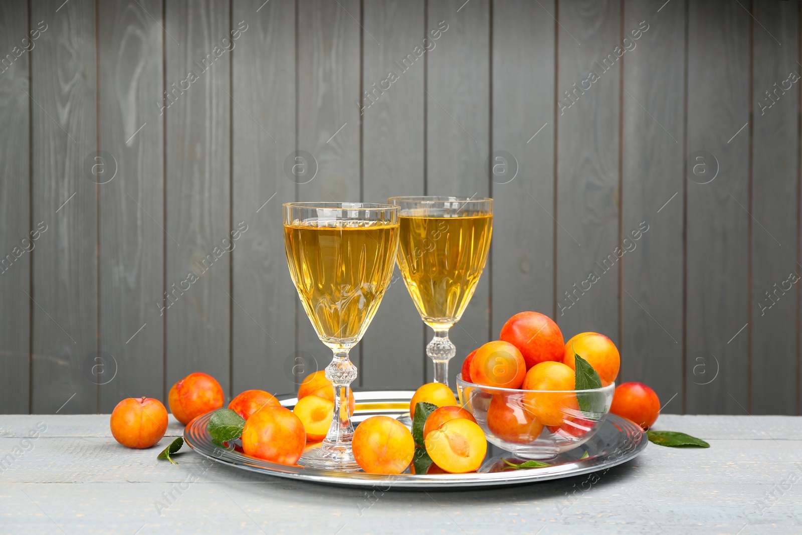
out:
<path id="1" fill-rule="evenodd" d="M 326 366 L 326 379 L 334 385 L 334 418 L 323 440 L 323 452 L 335 460 L 353 460 L 351 438 L 354 426 L 350 421 L 350 383 L 356 379 L 356 366 L 348 359 L 348 350 L 335 349 L 334 359 Z"/>

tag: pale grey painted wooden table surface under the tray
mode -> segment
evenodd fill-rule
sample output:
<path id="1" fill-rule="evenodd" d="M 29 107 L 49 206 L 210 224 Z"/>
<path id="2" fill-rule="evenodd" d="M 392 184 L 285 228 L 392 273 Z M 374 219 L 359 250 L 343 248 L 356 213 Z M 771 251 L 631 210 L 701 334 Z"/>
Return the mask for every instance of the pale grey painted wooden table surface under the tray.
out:
<path id="1" fill-rule="evenodd" d="M 170 416 L 154 448 L 108 415 L 0 416 L 0 533 L 799 533 L 802 417 L 662 415 L 711 448 L 662 448 L 598 476 L 460 492 L 373 492 L 204 460 Z M 38 430 L 38 433 L 37 433 Z M 27 439 L 30 432 L 37 438 Z"/>

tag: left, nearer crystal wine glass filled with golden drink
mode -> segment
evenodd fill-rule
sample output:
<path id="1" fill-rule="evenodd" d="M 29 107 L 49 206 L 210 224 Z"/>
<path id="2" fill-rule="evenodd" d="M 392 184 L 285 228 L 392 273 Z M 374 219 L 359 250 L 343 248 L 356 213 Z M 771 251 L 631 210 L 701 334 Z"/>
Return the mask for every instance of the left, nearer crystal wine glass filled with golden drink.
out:
<path id="1" fill-rule="evenodd" d="M 320 448 L 298 462 L 354 470 L 348 351 L 363 337 L 390 286 L 399 241 L 399 207 L 348 202 L 291 202 L 284 207 L 284 249 L 298 297 L 318 338 L 334 352 L 334 418 Z"/>

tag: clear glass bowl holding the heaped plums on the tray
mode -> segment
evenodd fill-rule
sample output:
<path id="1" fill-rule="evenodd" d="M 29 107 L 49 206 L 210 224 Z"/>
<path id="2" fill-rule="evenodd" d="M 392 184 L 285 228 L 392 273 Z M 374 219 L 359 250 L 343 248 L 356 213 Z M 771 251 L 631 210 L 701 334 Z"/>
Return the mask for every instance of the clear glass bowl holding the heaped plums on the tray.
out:
<path id="1" fill-rule="evenodd" d="M 587 442 L 602 428 L 615 383 L 595 390 L 496 388 L 456 378 L 460 403 L 488 441 L 529 459 L 545 459 Z"/>

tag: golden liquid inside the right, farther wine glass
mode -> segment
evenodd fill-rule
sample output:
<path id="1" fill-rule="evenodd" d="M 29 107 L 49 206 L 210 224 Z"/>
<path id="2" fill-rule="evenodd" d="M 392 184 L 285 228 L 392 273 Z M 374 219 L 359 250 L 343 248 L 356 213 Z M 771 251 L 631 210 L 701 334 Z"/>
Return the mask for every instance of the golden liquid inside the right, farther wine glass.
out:
<path id="1" fill-rule="evenodd" d="M 460 320 L 490 249 L 492 215 L 401 216 L 398 262 L 423 322 L 434 329 Z"/>

